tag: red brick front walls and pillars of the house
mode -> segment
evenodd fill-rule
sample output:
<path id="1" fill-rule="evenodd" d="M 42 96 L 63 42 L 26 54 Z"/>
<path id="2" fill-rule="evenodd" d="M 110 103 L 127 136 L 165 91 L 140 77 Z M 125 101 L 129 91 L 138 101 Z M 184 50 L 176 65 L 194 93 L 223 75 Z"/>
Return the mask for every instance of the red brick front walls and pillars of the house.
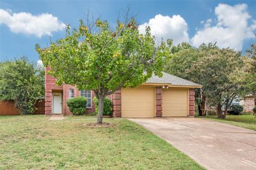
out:
<path id="1" fill-rule="evenodd" d="M 47 72 L 49 71 L 49 67 L 45 68 L 45 114 L 51 115 L 56 113 L 54 111 L 54 97 L 61 97 L 59 98 L 58 102 L 58 114 L 64 115 L 72 115 L 72 112 L 69 111 L 67 107 L 67 100 L 70 98 L 70 93 L 72 93 L 72 97 L 80 97 L 81 91 L 79 91 L 76 86 L 71 86 L 68 84 L 63 84 L 61 86 L 56 86 L 55 82 L 56 79 L 51 75 L 48 75 Z M 180 78 L 179 78 L 180 79 Z M 144 84 L 142 86 L 150 86 L 154 89 L 154 117 L 162 117 L 163 116 L 163 88 L 161 84 L 154 84 L 154 86 L 149 84 Z M 188 114 L 186 116 L 194 116 L 195 115 L 195 88 L 184 88 L 188 91 Z M 90 107 L 86 107 L 86 113 L 95 112 L 95 105 L 93 103 L 93 98 L 95 94 L 93 91 L 86 91 L 86 93 L 90 96 L 87 98 L 90 100 Z M 58 94 L 58 95 L 56 95 Z M 108 98 L 111 100 L 113 104 L 113 117 L 122 117 L 122 90 L 116 91 L 113 95 L 109 95 Z M 61 100 L 61 101 L 60 101 Z M 185 98 L 184 98 L 185 100 Z M 60 109 L 61 107 L 61 109 Z"/>

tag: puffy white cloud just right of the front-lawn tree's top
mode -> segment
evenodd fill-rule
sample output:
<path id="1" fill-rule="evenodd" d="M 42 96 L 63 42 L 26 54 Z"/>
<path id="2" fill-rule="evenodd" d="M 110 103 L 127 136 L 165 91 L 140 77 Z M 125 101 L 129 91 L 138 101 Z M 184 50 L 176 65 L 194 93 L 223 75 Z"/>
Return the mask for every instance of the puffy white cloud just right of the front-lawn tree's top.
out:
<path id="1" fill-rule="evenodd" d="M 173 15 L 172 17 L 156 15 L 139 26 L 140 33 L 145 33 L 146 26 L 150 26 L 151 34 L 156 36 L 157 41 L 161 41 L 163 37 L 163 40 L 172 38 L 175 45 L 189 42 L 188 24 L 180 15 Z"/>

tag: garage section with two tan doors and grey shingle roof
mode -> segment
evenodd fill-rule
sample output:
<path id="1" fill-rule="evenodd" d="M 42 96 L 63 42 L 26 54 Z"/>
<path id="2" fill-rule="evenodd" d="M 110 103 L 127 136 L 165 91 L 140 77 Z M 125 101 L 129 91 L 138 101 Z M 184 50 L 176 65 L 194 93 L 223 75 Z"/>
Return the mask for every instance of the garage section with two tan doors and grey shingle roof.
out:
<path id="1" fill-rule="evenodd" d="M 122 88 L 113 94 L 113 117 L 194 116 L 195 88 L 202 85 L 169 73 L 152 75 L 136 88 Z"/>

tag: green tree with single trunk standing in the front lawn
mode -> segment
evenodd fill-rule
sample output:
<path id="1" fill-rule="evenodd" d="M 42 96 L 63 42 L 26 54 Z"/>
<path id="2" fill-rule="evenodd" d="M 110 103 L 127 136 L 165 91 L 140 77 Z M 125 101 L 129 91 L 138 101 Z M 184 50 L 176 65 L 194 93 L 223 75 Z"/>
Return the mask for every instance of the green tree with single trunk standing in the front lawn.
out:
<path id="1" fill-rule="evenodd" d="M 57 84 L 72 84 L 78 89 L 92 89 L 99 102 L 97 123 L 102 123 L 103 100 L 122 87 L 135 87 L 152 73 L 161 76 L 164 60 L 172 44 L 155 44 L 147 27 L 138 31 L 134 19 L 117 22 L 113 30 L 108 21 L 97 20 L 70 31 L 50 47 L 36 45 L 44 66 L 50 66 Z"/>

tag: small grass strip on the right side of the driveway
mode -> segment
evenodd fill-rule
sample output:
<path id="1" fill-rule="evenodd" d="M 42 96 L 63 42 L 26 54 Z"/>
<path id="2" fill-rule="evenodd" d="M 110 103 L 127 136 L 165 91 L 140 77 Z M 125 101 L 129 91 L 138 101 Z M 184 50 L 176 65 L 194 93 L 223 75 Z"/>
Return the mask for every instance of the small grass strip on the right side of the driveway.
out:
<path id="1" fill-rule="evenodd" d="M 216 116 L 206 116 L 205 118 L 211 118 L 230 125 L 256 130 L 256 117 L 252 114 L 227 115 L 225 120 L 216 118 Z"/>

